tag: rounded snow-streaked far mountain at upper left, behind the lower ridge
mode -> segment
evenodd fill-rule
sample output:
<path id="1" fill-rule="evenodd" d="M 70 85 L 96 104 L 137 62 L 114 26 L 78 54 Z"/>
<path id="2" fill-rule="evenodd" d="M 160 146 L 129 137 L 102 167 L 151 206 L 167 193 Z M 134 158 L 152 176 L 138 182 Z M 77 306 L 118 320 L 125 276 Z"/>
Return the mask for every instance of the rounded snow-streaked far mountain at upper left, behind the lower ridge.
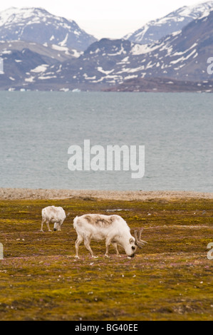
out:
<path id="1" fill-rule="evenodd" d="M 0 39 L 54 44 L 84 51 L 96 38 L 75 21 L 54 16 L 41 8 L 10 8 L 0 12 Z"/>

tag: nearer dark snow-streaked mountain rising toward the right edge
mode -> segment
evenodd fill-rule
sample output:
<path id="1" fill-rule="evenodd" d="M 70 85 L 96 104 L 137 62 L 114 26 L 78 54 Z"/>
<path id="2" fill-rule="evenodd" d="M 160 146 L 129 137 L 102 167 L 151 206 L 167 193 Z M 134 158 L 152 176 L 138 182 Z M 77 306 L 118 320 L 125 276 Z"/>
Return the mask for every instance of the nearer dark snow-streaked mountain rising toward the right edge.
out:
<path id="1" fill-rule="evenodd" d="M 41 73 L 30 73 L 27 80 L 38 85 L 42 78 L 49 84 L 55 82 L 83 89 L 125 85 L 130 79 L 140 78 L 212 82 L 212 76 L 207 73 L 207 59 L 212 55 L 213 11 L 157 43 L 141 45 L 124 39 L 103 38 L 79 58 L 50 66 Z M 197 91 L 199 88 L 197 86 Z"/>

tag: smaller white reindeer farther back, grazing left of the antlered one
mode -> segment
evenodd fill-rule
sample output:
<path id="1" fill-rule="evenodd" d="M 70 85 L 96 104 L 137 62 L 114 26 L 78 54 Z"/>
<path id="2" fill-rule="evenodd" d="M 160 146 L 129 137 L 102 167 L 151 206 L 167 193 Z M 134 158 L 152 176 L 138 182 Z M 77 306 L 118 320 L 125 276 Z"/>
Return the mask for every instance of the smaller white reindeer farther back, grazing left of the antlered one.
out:
<path id="1" fill-rule="evenodd" d="M 43 232 L 43 224 L 46 223 L 48 231 L 51 232 L 50 223 L 54 224 L 54 231 L 61 231 L 63 221 L 66 219 L 66 213 L 62 207 L 49 206 L 43 208 L 42 212 L 42 222 L 41 222 L 41 232 Z"/>

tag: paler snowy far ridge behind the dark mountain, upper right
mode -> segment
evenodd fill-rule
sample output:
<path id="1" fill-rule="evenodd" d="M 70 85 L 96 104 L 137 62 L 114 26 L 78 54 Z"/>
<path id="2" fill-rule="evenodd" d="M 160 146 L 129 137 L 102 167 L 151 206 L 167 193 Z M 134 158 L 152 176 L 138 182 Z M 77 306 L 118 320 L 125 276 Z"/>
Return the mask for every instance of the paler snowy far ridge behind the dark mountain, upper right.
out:
<path id="1" fill-rule="evenodd" d="M 146 44 L 154 41 L 159 41 L 161 38 L 180 31 L 183 27 L 187 26 L 194 19 L 198 19 L 199 16 L 209 13 L 213 10 L 213 1 L 207 1 L 203 4 L 197 4 L 194 6 L 184 6 L 177 11 L 161 19 L 156 19 L 148 22 L 134 33 L 129 33 L 124 38 L 129 39 L 135 43 Z"/>

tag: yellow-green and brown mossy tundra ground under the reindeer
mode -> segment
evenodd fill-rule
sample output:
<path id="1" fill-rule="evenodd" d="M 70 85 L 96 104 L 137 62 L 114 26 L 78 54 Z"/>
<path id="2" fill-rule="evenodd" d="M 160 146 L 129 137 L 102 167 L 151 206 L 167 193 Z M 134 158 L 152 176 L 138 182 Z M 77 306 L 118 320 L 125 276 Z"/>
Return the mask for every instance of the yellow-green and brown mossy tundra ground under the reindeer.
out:
<path id="1" fill-rule="evenodd" d="M 71 216 L 62 232 L 40 232 L 41 209 L 60 205 Z M 212 320 L 212 200 L 95 199 L 0 202 L 1 320 Z M 122 210 L 113 212 L 113 210 Z M 108 212 L 110 210 L 110 212 Z M 148 244 L 134 259 L 105 259 L 104 242 L 92 242 L 98 259 L 80 245 L 74 259 L 73 218 L 85 213 L 121 215 L 144 228 Z M 46 227 L 45 227 L 46 229 Z"/>

